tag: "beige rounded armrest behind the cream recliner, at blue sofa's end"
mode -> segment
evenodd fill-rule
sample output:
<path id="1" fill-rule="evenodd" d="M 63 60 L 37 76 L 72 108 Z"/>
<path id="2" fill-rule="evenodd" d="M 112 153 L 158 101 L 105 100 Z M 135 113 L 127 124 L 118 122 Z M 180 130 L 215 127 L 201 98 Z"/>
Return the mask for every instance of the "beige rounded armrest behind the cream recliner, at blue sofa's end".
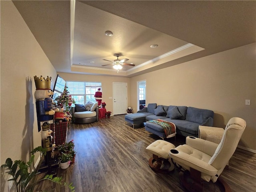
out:
<path id="1" fill-rule="evenodd" d="M 224 131 L 223 128 L 200 125 L 198 128 L 198 137 L 219 144 Z"/>

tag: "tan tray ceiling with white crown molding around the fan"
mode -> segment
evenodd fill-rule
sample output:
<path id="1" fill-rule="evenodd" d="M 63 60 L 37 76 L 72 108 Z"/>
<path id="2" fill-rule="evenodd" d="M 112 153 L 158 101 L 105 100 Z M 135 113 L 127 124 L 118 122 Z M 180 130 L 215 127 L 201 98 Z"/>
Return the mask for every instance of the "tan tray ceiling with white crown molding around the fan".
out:
<path id="1" fill-rule="evenodd" d="M 132 77 L 256 42 L 256 1 L 13 2 L 57 72 Z"/>

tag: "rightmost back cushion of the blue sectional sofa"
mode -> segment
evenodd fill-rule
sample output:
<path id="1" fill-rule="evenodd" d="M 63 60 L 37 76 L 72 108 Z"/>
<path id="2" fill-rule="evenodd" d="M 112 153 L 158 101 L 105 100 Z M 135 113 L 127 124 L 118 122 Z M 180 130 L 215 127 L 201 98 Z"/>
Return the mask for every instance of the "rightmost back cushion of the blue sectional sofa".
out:
<path id="1" fill-rule="evenodd" d="M 186 121 L 202 124 L 208 118 L 213 118 L 213 116 L 214 112 L 212 110 L 188 107 Z"/>

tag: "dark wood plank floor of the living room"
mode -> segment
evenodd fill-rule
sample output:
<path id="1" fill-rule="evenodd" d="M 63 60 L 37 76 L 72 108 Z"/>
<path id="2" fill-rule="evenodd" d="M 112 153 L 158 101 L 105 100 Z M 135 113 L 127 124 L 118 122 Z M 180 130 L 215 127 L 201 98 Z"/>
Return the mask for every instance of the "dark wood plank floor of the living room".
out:
<path id="1" fill-rule="evenodd" d="M 178 173 L 160 174 L 148 166 L 152 154 L 146 147 L 158 140 L 140 126 L 125 124 L 124 115 L 100 119 L 92 124 L 71 124 L 67 141 L 74 140 L 76 162 L 66 170 L 58 170 L 67 183 L 73 182 L 76 192 L 183 192 Z M 175 146 L 185 138 L 167 140 Z M 222 178 L 233 192 L 256 192 L 256 154 L 237 149 Z M 42 174 L 40 174 L 42 175 Z M 222 191 L 218 183 L 205 182 L 205 192 Z M 41 182 L 38 190 L 69 191 L 51 182 Z"/>

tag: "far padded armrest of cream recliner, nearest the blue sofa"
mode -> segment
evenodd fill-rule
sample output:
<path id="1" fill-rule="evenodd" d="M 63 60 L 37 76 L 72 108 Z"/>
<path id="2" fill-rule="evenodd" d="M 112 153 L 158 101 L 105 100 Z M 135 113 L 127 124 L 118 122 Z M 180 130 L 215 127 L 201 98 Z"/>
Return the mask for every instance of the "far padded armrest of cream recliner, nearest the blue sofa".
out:
<path id="1" fill-rule="evenodd" d="M 195 148 L 199 151 L 202 151 L 210 156 L 213 156 L 213 154 L 216 151 L 216 148 L 218 147 L 218 144 L 216 144 L 214 142 L 210 142 L 210 141 L 196 138 L 193 136 L 186 137 L 186 144 L 188 146 Z"/>

